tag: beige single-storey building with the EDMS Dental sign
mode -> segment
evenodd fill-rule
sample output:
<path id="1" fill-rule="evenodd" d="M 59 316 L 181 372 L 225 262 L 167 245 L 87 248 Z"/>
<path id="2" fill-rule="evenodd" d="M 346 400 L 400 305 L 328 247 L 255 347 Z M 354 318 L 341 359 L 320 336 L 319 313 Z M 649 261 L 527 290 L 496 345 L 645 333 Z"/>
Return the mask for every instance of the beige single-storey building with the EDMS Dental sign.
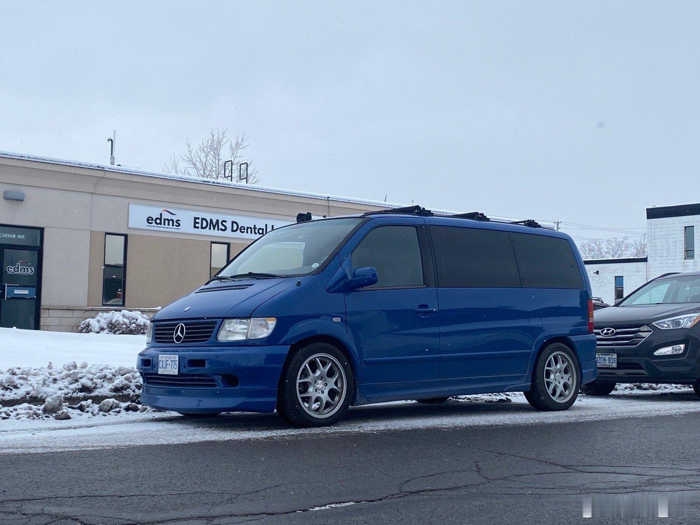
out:
<path id="1" fill-rule="evenodd" d="M 392 206 L 15 153 L 0 190 L 0 326 L 64 331 L 165 306 L 299 213 Z"/>

